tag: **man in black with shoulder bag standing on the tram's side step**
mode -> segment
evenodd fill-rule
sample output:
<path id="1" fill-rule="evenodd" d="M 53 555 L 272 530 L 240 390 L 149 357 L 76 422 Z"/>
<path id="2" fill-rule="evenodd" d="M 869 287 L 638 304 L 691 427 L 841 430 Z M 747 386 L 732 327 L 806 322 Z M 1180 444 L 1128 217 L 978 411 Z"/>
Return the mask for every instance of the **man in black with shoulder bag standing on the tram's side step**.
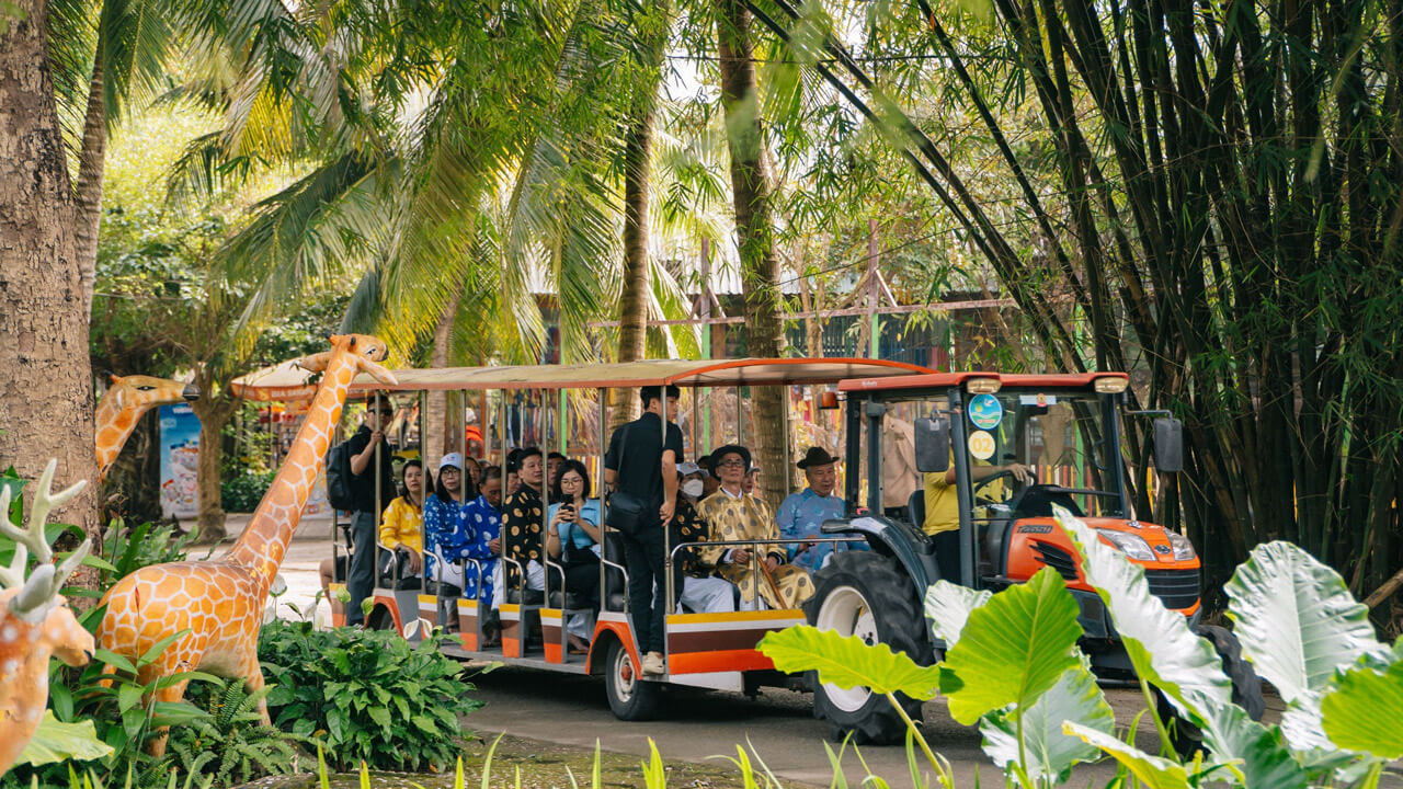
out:
<path id="1" fill-rule="evenodd" d="M 668 386 L 668 414 L 678 413 L 678 387 Z M 678 497 L 678 463 L 682 460 L 682 430 L 668 423 L 662 427 L 662 387 L 644 386 L 643 416 L 620 427 L 609 438 L 605 455 L 605 484 L 645 503 L 644 524 L 637 535 L 620 532 L 623 557 L 629 567 L 629 609 L 633 632 L 643 653 L 644 674 L 664 674 L 664 535 L 672 522 Z M 657 518 L 652 517 L 657 512 Z M 654 581 L 658 591 L 654 594 Z"/>

